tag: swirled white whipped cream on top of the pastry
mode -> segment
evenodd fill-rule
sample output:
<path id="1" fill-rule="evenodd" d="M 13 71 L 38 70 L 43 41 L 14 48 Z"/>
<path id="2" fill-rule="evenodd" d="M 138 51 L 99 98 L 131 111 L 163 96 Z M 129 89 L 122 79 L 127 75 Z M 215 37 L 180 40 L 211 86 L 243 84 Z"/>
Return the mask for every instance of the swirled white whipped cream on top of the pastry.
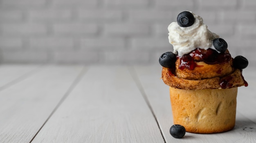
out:
<path id="1" fill-rule="evenodd" d="M 168 26 L 169 43 L 173 45 L 173 53 L 179 56 L 188 54 L 196 48 L 216 50 L 213 47 L 213 39 L 219 38 L 219 35 L 208 30 L 207 25 L 203 23 L 202 17 L 192 14 L 195 17 L 193 25 L 181 27 L 177 22 L 172 22 Z"/>

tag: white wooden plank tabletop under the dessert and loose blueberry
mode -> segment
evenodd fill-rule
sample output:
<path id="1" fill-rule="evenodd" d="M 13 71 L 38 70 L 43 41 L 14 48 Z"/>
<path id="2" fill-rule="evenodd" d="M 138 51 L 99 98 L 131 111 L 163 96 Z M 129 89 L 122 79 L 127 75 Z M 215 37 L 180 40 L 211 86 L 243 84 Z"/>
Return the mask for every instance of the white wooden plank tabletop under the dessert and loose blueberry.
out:
<path id="1" fill-rule="evenodd" d="M 256 143 L 256 68 L 243 71 L 233 130 L 182 139 L 161 69 L 0 65 L 0 143 Z"/>

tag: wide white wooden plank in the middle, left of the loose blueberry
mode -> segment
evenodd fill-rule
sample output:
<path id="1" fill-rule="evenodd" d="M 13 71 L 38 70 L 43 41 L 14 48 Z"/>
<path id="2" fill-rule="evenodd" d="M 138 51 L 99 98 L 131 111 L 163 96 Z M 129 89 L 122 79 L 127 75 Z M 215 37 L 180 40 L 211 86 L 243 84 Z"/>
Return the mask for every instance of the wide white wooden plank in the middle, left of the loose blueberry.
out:
<path id="1" fill-rule="evenodd" d="M 91 67 L 32 143 L 164 143 L 127 67 Z"/>

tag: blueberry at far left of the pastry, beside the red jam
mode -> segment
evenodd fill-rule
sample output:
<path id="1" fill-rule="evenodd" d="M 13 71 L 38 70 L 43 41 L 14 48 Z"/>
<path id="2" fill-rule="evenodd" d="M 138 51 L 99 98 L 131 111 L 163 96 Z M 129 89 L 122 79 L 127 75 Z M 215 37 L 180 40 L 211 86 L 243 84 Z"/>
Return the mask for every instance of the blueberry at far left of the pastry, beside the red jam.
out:
<path id="1" fill-rule="evenodd" d="M 163 67 L 168 67 L 168 68 L 174 67 L 175 62 L 176 62 L 176 54 L 174 54 L 173 52 L 165 52 L 159 58 L 159 63 Z"/>

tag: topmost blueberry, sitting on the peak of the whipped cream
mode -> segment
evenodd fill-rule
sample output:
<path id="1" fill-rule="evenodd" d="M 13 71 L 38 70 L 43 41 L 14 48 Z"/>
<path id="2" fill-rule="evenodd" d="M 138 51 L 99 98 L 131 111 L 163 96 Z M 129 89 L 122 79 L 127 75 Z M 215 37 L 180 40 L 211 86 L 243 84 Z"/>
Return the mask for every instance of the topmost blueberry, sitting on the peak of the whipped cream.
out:
<path id="1" fill-rule="evenodd" d="M 195 22 L 194 15 L 189 11 L 183 11 L 177 16 L 177 23 L 181 27 L 189 27 Z"/>

